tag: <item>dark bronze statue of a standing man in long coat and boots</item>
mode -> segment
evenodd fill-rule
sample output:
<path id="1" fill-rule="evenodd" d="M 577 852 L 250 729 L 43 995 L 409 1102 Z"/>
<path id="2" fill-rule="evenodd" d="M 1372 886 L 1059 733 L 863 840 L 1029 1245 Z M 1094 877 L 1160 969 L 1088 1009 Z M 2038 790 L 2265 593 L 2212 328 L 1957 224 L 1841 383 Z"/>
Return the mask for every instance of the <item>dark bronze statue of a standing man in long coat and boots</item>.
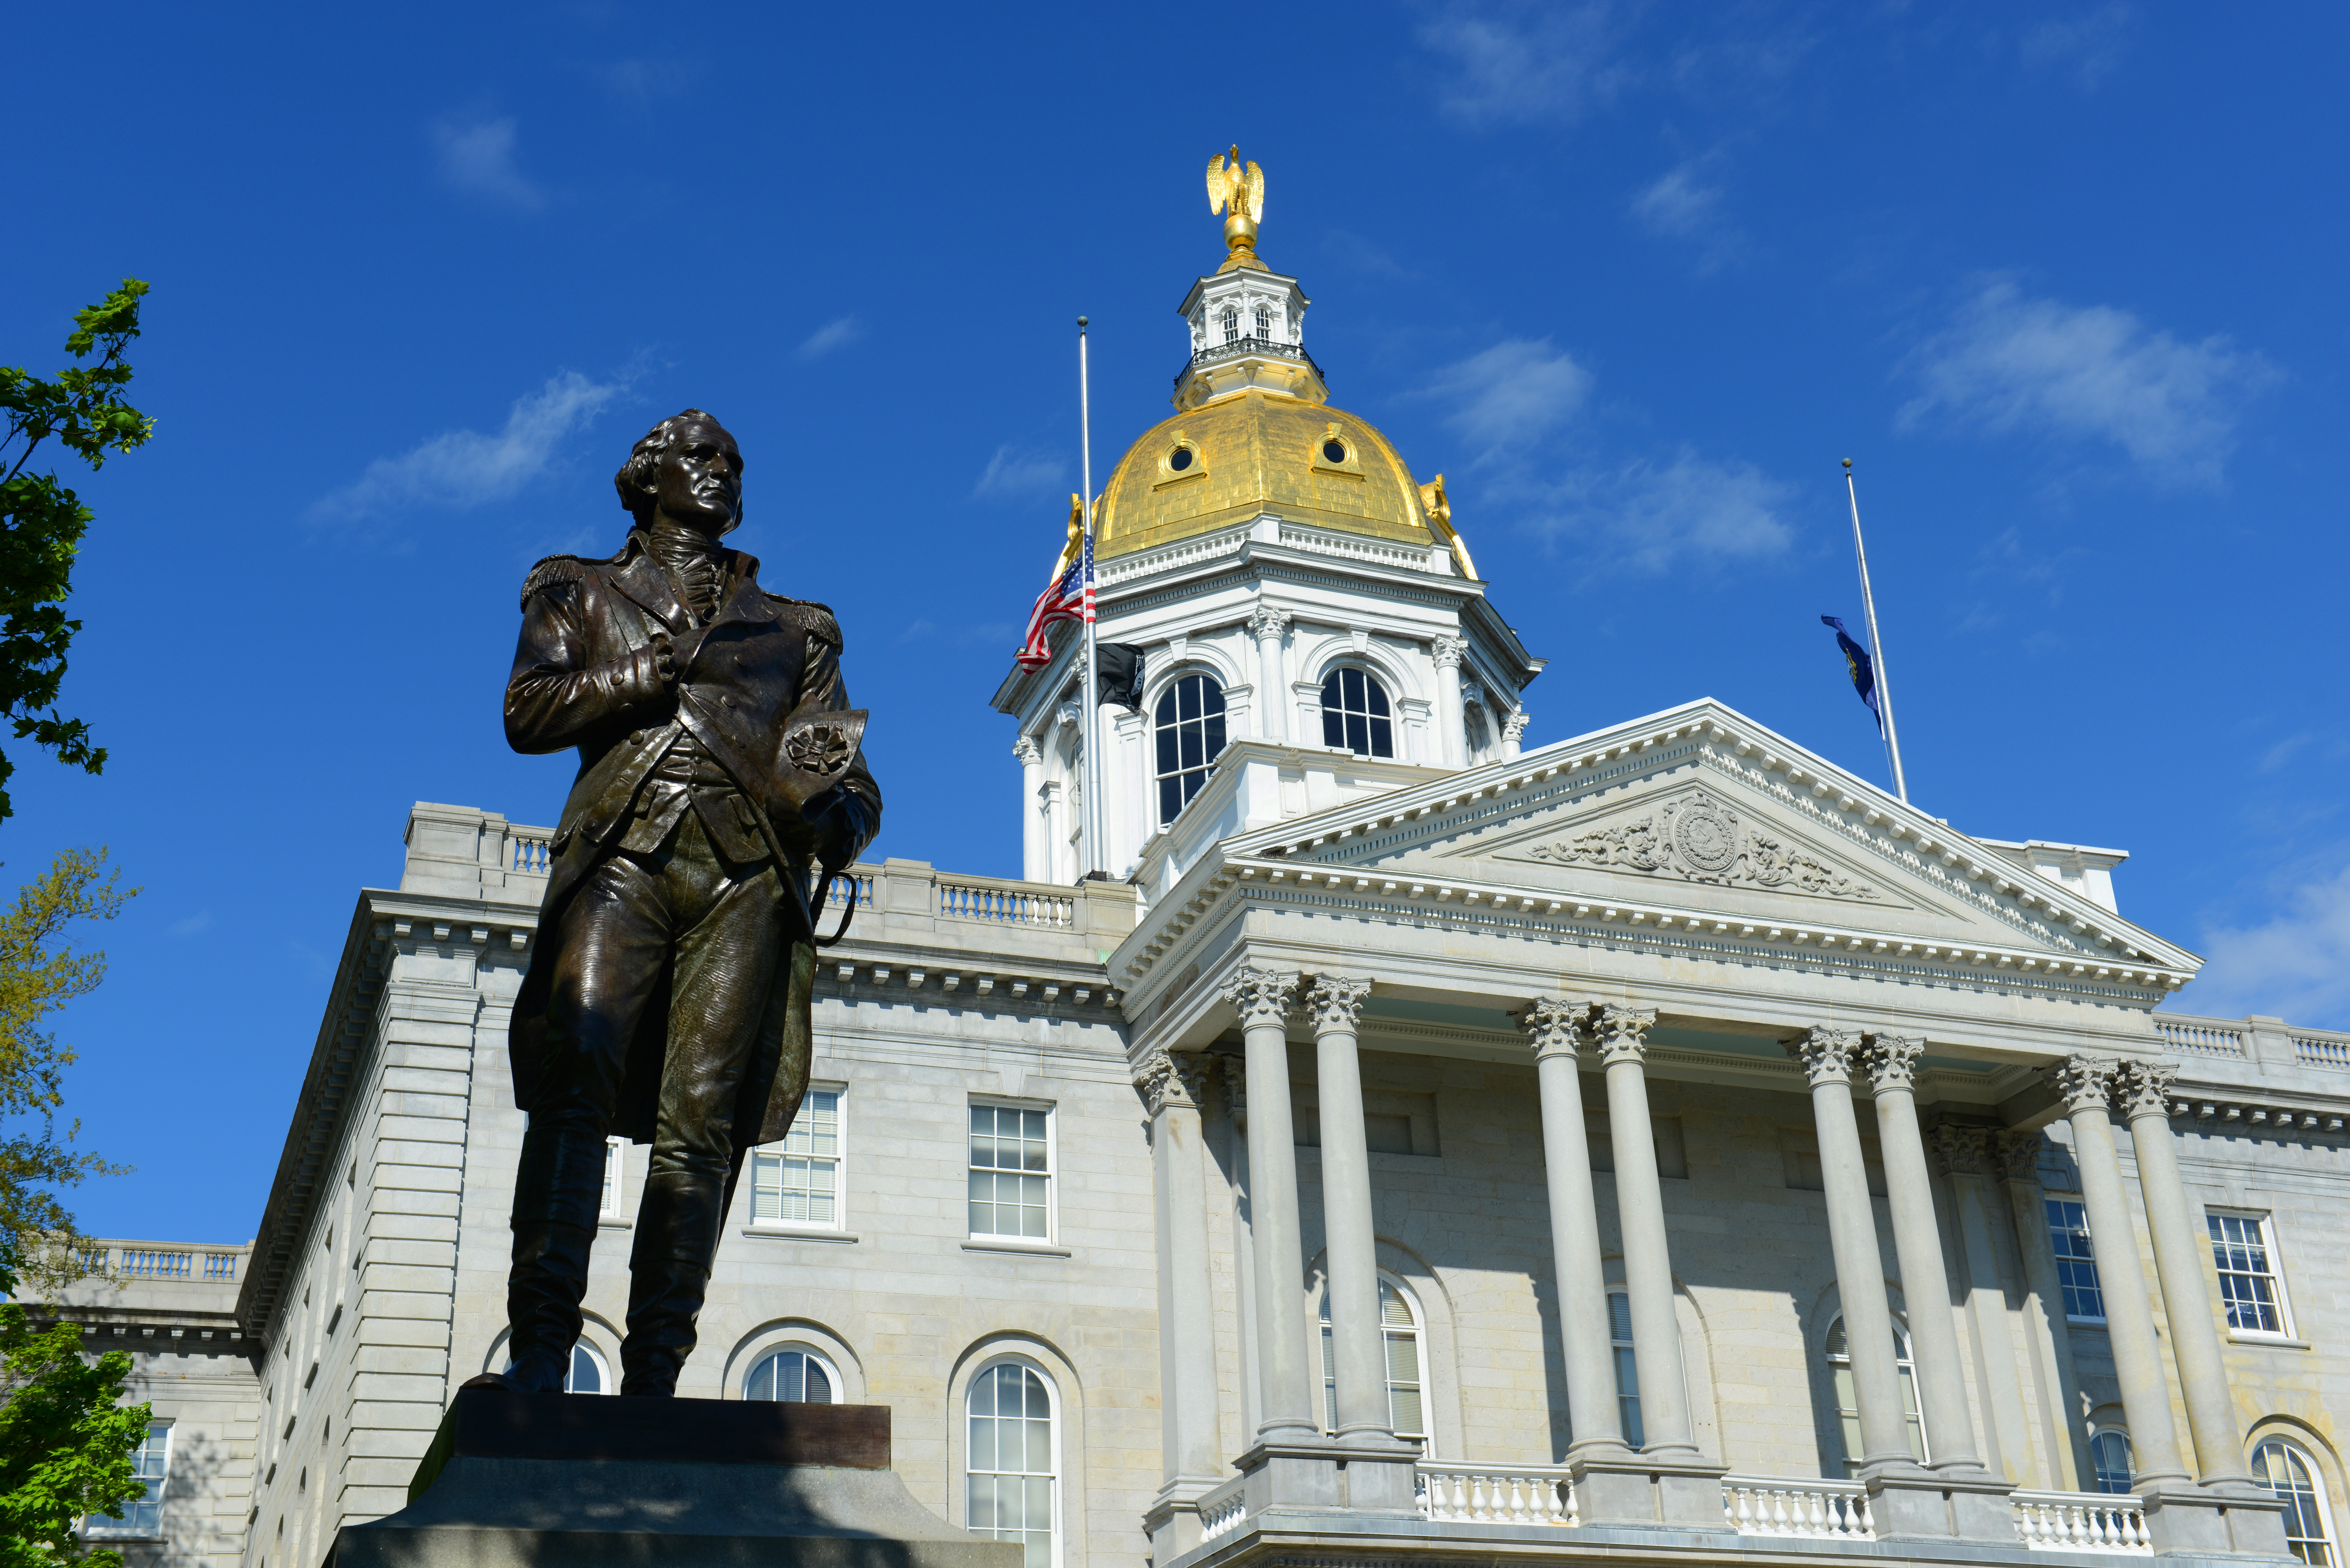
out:
<path id="1" fill-rule="evenodd" d="M 505 1382 L 564 1387 L 623 1133 L 653 1154 L 620 1392 L 674 1394 L 743 1154 L 790 1131 L 808 1086 L 811 872 L 855 860 L 881 792 L 832 611 L 764 592 L 759 562 L 719 545 L 743 520 L 719 421 L 660 421 L 613 487 L 627 543 L 531 569 L 505 684 L 517 752 L 580 755 L 510 1032 L 529 1131 Z"/>

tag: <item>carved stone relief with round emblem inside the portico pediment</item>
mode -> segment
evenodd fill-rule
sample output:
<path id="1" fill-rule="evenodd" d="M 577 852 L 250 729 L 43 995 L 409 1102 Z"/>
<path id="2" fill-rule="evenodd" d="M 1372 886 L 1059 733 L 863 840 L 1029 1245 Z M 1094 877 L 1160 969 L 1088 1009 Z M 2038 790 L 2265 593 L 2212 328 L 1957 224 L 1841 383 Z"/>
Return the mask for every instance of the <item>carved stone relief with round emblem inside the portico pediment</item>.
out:
<path id="1" fill-rule="evenodd" d="M 1852 877 L 1774 830 L 1753 827 L 1711 790 L 1683 790 L 1668 802 L 1643 806 L 1582 832 L 1513 846 L 1511 860 L 1591 865 L 1612 872 L 1647 872 L 1882 903 L 1885 893 Z"/>

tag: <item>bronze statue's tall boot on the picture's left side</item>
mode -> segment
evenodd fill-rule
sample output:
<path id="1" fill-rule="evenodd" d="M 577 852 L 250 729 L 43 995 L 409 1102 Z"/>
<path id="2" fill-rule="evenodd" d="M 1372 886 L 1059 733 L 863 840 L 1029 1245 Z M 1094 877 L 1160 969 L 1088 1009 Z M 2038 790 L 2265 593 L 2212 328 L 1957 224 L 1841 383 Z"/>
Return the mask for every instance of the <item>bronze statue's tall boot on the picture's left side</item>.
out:
<path id="1" fill-rule="evenodd" d="M 562 1394 L 580 1338 L 588 1248 L 604 1204 L 604 1135 L 531 1119 L 515 1175 L 515 1267 L 505 1276 L 512 1328 L 505 1378 L 529 1394 Z"/>

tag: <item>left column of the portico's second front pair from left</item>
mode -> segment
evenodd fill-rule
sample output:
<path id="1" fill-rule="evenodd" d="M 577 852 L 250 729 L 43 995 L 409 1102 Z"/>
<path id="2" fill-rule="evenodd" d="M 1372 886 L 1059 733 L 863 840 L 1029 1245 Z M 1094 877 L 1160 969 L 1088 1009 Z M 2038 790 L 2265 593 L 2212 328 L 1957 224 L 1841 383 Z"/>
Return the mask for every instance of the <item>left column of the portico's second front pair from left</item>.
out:
<path id="1" fill-rule="evenodd" d="M 1584 1084 L 1574 1065 L 1589 1009 L 1589 1001 L 1535 997 L 1518 1013 L 1518 1027 L 1535 1046 L 1535 1084 L 1542 1093 L 1542 1168 L 1551 1187 L 1551 1265 L 1558 1269 L 1558 1340 L 1567 1359 L 1570 1458 L 1624 1446 L 1624 1410 L 1617 1406 L 1610 1359 L 1607 1279 L 1600 1269 L 1600 1213 L 1584 1135 Z"/>

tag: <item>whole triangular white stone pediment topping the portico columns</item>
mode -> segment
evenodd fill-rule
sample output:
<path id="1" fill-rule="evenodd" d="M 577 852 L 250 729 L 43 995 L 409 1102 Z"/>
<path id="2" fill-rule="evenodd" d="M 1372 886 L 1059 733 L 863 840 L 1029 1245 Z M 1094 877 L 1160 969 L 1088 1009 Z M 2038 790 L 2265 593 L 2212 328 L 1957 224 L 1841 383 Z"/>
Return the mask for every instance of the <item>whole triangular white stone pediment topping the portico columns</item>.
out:
<path id="1" fill-rule="evenodd" d="M 1241 832 L 1222 858 L 1236 884 L 1800 947 L 1807 961 L 2061 976 L 2113 994 L 2200 969 L 1713 701 Z"/>

